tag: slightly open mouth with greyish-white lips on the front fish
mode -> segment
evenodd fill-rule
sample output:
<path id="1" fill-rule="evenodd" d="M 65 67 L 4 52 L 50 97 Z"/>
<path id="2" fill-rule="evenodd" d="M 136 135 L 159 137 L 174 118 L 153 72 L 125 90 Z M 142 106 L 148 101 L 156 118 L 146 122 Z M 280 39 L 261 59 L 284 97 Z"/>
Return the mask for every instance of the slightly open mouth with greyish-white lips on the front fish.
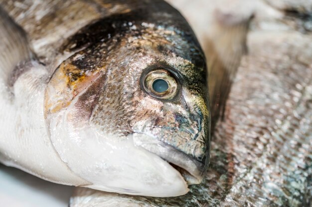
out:
<path id="1" fill-rule="evenodd" d="M 145 148 L 167 161 L 177 170 L 188 185 L 201 183 L 204 174 L 204 164 L 184 152 L 156 138 L 144 134 L 134 136 L 134 144 Z"/>

